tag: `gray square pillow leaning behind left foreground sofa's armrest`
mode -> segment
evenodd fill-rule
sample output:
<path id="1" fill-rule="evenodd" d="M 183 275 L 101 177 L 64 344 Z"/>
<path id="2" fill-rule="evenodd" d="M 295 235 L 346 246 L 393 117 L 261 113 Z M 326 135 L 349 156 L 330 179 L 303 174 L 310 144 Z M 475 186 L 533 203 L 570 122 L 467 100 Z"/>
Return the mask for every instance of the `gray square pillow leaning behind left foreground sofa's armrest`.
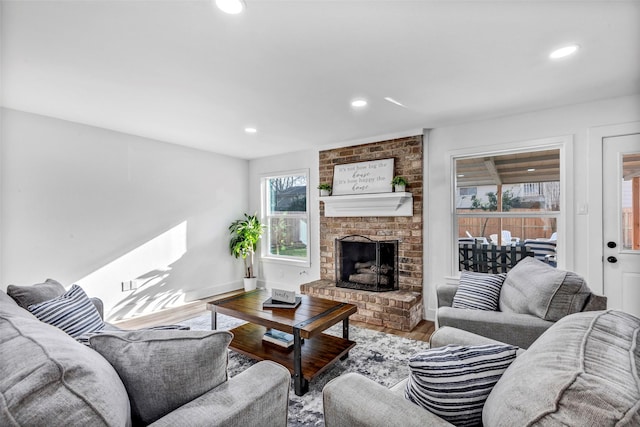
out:
<path id="1" fill-rule="evenodd" d="M 120 375 L 134 424 L 147 425 L 227 381 L 232 338 L 228 331 L 141 330 L 89 343 Z"/>

